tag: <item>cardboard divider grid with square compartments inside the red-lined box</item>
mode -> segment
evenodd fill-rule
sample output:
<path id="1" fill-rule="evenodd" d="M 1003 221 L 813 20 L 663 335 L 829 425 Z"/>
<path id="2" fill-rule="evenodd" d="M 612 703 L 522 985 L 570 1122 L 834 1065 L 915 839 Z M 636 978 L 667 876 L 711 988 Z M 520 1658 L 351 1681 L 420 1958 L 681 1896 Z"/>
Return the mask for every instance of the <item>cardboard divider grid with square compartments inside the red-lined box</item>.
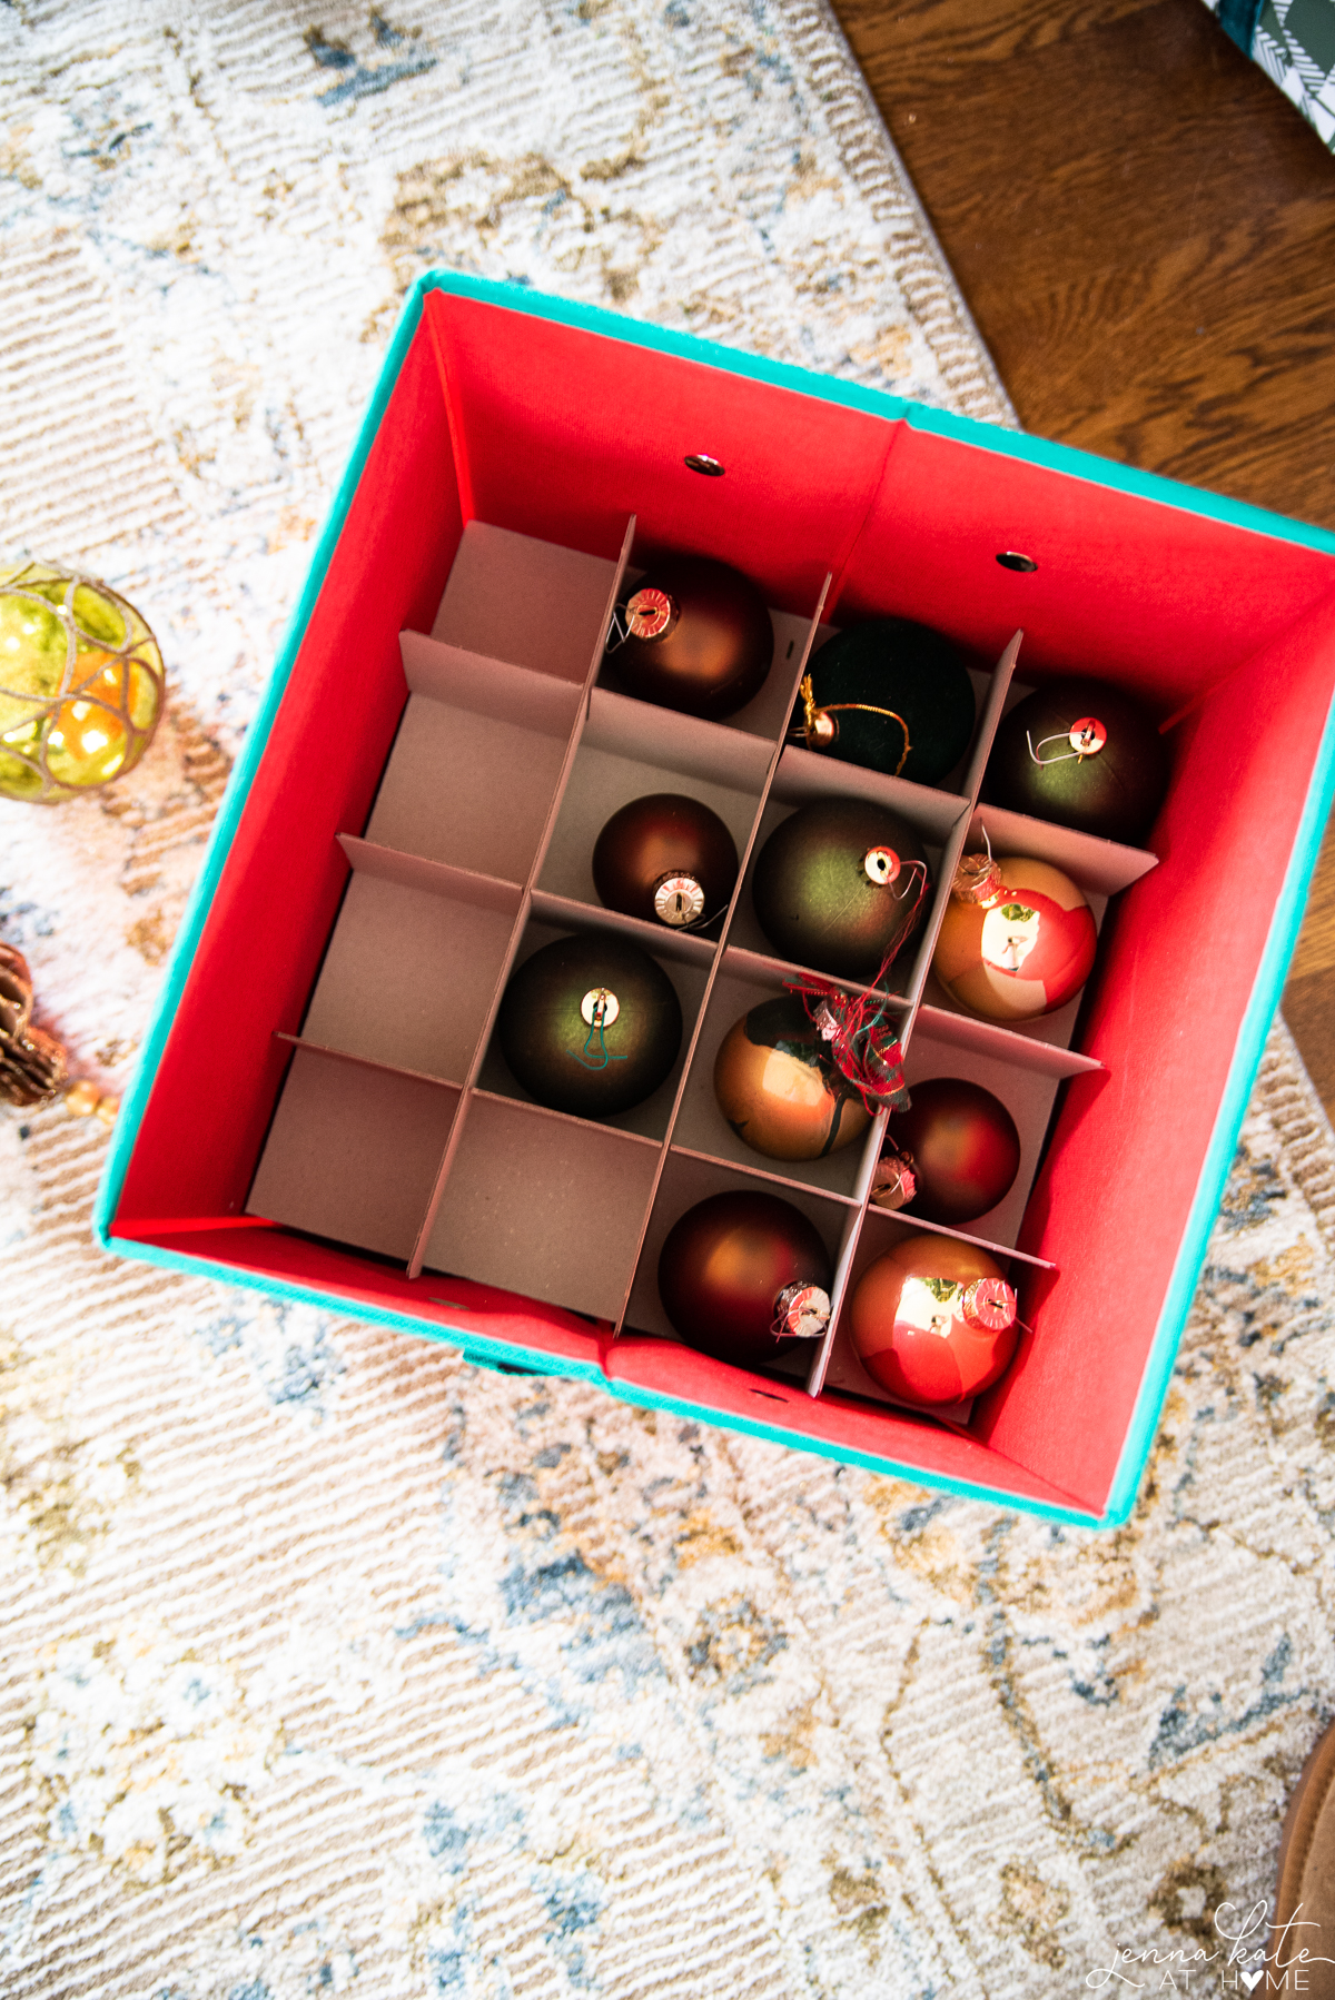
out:
<path id="1" fill-rule="evenodd" d="M 338 836 L 350 876 L 294 1048 L 248 1212 L 590 1314 L 612 1334 L 673 1336 L 656 1292 L 671 1226 L 709 1192 L 769 1186 L 807 1214 L 835 1266 L 833 1316 L 815 1348 L 779 1372 L 887 1402 L 851 1350 L 851 1284 L 887 1230 L 931 1228 L 869 1208 L 887 1114 L 823 1160 L 769 1160 L 723 1120 L 713 1090 L 719 1044 L 797 970 L 761 932 L 751 878 L 769 834 L 809 800 L 883 802 L 917 830 L 931 896 L 905 952 L 901 1018 L 909 1080 L 965 1076 L 1011 1108 L 1021 1174 L 969 1230 L 999 1258 L 1015 1248 L 1061 1080 L 1099 1064 L 1067 1050 L 1079 1004 L 1041 1024 L 999 1028 L 955 1010 L 931 978 L 931 952 L 965 848 L 1053 860 L 1103 900 L 1153 856 L 981 806 L 987 754 L 1009 702 L 1021 634 L 991 676 L 973 670 L 971 750 L 929 788 L 787 742 L 821 622 L 771 612 L 775 668 L 727 722 L 630 698 L 604 656 L 628 568 L 468 522 L 432 634 L 402 634 L 408 700 L 366 832 Z M 604 910 L 590 858 L 612 812 L 683 790 L 731 828 L 741 870 L 727 912 L 693 934 Z M 673 980 L 683 1048 L 669 1080 L 608 1120 L 550 1112 L 514 1082 L 492 1042 L 504 986 L 554 936 L 634 938 Z M 863 990 L 857 982 L 841 982 Z M 1069 1016 L 1069 1018 L 1067 1018 Z M 1037 1032 L 1035 1032 L 1037 1028 Z M 350 1080 L 352 1078 L 352 1080 Z M 965 1424 L 967 1406 L 941 1412 Z"/>

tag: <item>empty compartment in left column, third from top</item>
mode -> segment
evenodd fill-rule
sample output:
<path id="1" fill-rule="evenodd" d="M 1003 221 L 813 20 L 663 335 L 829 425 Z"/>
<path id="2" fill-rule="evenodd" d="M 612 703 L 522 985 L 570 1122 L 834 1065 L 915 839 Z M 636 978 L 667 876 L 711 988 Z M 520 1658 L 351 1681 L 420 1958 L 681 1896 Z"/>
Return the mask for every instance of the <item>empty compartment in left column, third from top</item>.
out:
<path id="1" fill-rule="evenodd" d="M 520 892 L 344 834 L 352 878 L 302 1038 L 462 1082 Z"/>

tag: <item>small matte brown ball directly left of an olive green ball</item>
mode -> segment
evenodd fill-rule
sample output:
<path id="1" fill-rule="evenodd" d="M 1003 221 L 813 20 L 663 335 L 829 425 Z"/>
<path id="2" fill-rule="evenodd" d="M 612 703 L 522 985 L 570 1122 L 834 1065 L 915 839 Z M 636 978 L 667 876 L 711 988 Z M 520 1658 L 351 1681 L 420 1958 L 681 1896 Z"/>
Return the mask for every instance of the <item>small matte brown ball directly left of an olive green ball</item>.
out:
<path id="1" fill-rule="evenodd" d="M 608 910 L 695 930 L 729 904 L 737 842 L 699 798 L 650 792 L 614 812 L 598 834 L 592 882 Z"/>

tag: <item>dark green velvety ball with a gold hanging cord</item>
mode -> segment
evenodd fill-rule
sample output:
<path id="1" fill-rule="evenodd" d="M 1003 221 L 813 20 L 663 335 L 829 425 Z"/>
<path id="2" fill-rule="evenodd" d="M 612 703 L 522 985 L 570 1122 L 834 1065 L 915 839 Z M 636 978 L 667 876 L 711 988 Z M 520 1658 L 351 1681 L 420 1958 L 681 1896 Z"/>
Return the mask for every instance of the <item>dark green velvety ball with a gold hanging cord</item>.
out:
<path id="1" fill-rule="evenodd" d="M 813 658 L 791 742 L 915 784 L 941 784 L 969 748 L 977 708 L 959 650 L 913 618 L 877 618 Z"/>

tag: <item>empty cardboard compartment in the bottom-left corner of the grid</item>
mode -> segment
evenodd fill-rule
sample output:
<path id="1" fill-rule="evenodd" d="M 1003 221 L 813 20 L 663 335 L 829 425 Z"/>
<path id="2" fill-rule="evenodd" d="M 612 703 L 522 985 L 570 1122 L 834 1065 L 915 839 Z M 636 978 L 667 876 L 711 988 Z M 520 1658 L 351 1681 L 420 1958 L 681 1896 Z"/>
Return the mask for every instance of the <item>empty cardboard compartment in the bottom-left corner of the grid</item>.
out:
<path id="1" fill-rule="evenodd" d="M 458 1090 L 296 1048 L 246 1214 L 408 1258 Z"/>

